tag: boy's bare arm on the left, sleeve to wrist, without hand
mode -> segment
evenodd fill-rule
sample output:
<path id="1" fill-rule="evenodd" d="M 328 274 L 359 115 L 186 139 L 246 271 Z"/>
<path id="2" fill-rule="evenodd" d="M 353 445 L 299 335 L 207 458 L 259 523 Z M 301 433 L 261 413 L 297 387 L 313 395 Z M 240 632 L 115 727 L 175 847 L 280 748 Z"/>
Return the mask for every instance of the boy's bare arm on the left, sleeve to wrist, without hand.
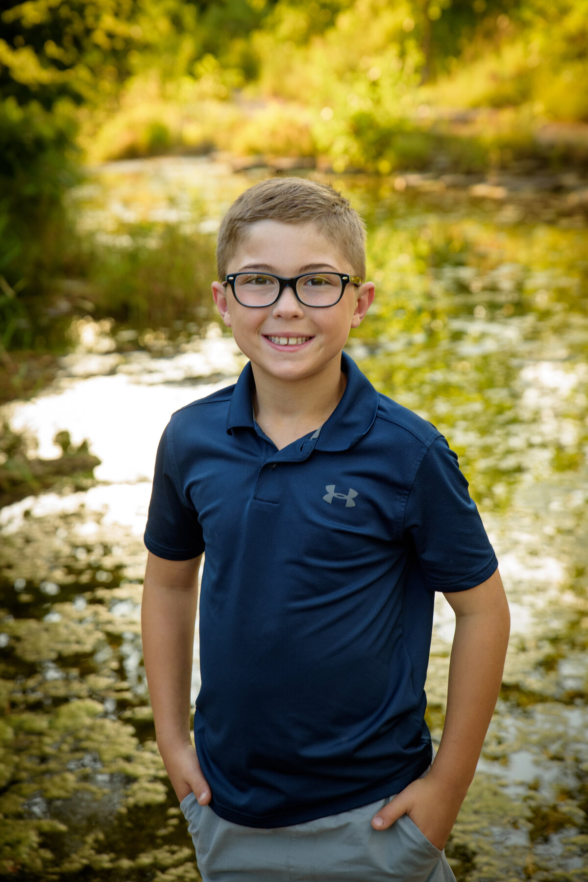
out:
<path id="1" fill-rule="evenodd" d="M 147 565 L 141 609 L 145 673 L 160 747 L 190 741 L 199 558 L 183 567 L 171 563 L 166 568 L 157 559 Z"/>

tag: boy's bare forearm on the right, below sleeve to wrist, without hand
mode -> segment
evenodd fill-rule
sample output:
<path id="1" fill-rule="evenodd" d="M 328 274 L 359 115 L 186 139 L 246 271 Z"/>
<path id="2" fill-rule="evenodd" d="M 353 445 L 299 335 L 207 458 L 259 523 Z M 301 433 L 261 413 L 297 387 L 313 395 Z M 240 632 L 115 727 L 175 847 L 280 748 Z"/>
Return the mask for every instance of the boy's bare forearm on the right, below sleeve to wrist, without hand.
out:
<path id="1" fill-rule="evenodd" d="M 450 657 L 447 710 L 435 777 L 459 804 L 476 770 L 502 682 L 509 640 L 506 600 L 493 609 L 457 614 Z"/>

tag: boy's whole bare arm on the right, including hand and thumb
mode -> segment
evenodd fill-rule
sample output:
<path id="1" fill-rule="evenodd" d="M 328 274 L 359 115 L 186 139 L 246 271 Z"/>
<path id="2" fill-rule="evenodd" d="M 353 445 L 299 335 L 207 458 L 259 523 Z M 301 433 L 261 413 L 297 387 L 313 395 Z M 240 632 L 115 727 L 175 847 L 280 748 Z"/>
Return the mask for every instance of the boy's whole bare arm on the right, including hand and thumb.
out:
<path id="1" fill-rule="evenodd" d="M 497 570 L 477 587 L 445 597 L 456 614 L 456 629 L 441 744 L 428 775 L 372 818 L 372 826 L 384 830 L 407 814 L 437 848 L 447 841 L 480 759 L 510 632 L 509 605 Z"/>

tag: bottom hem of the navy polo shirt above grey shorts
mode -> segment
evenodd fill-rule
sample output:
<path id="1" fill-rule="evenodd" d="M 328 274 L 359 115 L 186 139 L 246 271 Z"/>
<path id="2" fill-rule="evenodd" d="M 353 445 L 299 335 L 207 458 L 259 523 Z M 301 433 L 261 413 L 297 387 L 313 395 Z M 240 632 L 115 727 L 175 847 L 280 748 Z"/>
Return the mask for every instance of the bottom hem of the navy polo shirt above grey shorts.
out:
<path id="1" fill-rule="evenodd" d="M 329 803 L 315 805 L 311 808 L 307 807 L 305 809 L 299 809 L 298 811 L 286 811 L 279 812 L 279 814 L 256 817 L 254 815 L 246 814 L 243 811 L 235 811 L 234 809 L 228 808 L 226 805 L 219 804 L 214 797 L 212 797 L 209 806 L 219 818 L 223 818 L 223 820 L 230 821 L 239 826 L 269 830 L 275 829 L 276 827 L 303 824 L 306 821 L 315 821 L 318 818 L 326 818 L 329 815 L 339 814 L 341 811 L 359 809 L 362 805 L 376 802 L 377 799 L 385 799 L 389 796 L 394 796 L 399 793 L 400 790 L 408 787 L 413 781 L 416 781 L 416 779 L 428 769 L 428 766 L 431 765 L 432 756 L 433 748 L 429 745 L 429 750 L 427 751 L 425 758 L 421 759 L 418 765 L 414 766 L 410 773 L 407 773 L 400 778 L 396 777 L 391 778 L 389 781 L 383 781 L 379 783 L 377 787 L 363 790 L 359 794 L 354 794 L 354 796 L 340 797 L 337 800 L 331 800 Z"/>

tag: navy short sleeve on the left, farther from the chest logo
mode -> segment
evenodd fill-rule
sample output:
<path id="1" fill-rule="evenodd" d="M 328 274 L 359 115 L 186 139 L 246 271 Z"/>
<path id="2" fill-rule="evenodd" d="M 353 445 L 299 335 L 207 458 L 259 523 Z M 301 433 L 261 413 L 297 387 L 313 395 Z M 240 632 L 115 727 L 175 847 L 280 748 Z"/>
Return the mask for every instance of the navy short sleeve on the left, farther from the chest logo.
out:
<path id="1" fill-rule="evenodd" d="M 161 436 L 155 459 L 144 541 L 153 554 L 167 560 L 190 560 L 205 549 L 197 511 L 185 497 L 176 474 L 169 426 Z"/>

